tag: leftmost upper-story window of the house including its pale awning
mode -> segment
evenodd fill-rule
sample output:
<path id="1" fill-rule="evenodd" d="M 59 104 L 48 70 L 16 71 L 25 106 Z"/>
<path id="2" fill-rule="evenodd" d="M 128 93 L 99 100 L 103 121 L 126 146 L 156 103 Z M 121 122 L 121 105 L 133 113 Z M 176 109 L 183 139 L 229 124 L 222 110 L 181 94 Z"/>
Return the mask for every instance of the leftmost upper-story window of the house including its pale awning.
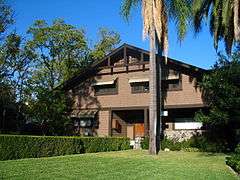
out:
<path id="1" fill-rule="evenodd" d="M 118 93 L 117 80 L 96 82 L 93 86 L 95 95 L 114 95 Z"/>

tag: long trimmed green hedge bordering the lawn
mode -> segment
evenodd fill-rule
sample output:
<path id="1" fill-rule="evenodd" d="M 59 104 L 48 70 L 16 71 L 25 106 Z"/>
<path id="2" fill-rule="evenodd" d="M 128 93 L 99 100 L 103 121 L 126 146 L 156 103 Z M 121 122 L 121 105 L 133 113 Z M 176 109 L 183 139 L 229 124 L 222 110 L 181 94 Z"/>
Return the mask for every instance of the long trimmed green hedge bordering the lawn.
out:
<path id="1" fill-rule="evenodd" d="M 0 135 L 0 160 L 127 149 L 128 138 Z"/>

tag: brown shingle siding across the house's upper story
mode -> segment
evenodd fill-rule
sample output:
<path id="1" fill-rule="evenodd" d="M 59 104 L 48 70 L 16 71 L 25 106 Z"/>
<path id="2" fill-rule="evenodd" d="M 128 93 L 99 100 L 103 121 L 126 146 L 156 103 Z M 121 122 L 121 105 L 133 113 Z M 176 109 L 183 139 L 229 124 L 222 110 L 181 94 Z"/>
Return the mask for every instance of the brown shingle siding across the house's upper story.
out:
<path id="1" fill-rule="evenodd" d="M 79 85 L 79 89 L 75 90 L 75 106 L 76 109 L 88 108 L 116 108 L 116 107 L 138 107 L 149 106 L 149 93 L 131 92 L 129 79 L 131 78 L 146 78 L 149 76 L 149 71 L 143 71 L 142 67 L 135 66 L 139 71 L 98 75 L 94 79 L 89 80 L 86 84 Z M 121 67 L 122 68 L 122 67 Z M 117 68 L 115 68 L 117 69 Z M 106 71 L 105 69 L 103 71 Z M 100 71 L 99 73 L 101 73 Z M 91 81 L 96 82 L 109 81 L 109 79 L 118 78 L 118 94 L 95 96 L 94 89 L 91 87 Z M 90 87 L 89 87 L 90 86 Z M 182 90 L 167 91 L 164 94 L 165 106 L 173 105 L 193 105 L 203 104 L 201 92 L 195 88 L 195 81 L 188 75 L 182 74 Z M 82 93 L 78 93 L 78 91 Z"/>

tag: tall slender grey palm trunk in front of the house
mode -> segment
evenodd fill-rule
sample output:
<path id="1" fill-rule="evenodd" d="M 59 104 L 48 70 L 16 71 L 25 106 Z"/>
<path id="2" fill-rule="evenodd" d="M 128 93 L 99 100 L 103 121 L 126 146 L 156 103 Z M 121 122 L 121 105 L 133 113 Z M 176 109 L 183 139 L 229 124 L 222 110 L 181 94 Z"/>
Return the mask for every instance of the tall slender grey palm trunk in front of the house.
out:
<path id="1" fill-rule="evenodd" d="M 156 31 L 154 25 L 150 29 L 150 104 L 149 104 L 149 154 L 158 154 L 159 152 L 159 128 L 157 128 L 159 117 L 159 71 L 156 61 Z"/>

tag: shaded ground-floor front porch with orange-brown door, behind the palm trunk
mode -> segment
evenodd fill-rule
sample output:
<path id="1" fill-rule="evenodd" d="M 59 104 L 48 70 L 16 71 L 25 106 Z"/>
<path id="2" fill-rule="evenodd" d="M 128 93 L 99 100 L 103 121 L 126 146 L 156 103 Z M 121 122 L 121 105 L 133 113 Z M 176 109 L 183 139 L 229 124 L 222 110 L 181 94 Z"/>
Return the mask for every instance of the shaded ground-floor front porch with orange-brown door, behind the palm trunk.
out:
<path id="1" fill-rule="evenodd" d="M 168 109 L 162 117 L 162 131 L 169 138 L 185 140 L 201 133 L 202 123 L 194 120 L 194 114 L 199 108 Z M 111 136 L 128 137 L 132 140 L 149 135 L 149 110 L 117 109 L 110 112 Z"/>

